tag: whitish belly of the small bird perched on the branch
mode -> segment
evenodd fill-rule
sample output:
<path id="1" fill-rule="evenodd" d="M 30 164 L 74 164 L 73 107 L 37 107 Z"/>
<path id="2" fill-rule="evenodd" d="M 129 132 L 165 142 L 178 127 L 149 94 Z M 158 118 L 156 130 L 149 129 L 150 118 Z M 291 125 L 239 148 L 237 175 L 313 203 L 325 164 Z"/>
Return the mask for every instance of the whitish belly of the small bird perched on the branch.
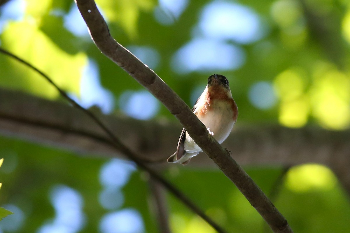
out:
<path id="1" fill-rule="evenodd" d="M 232 119 L 233 112 L 230 107 L 230 105 L 227 105 L 223 101 L 217 101 L 213 109 L 200 117 L 201 122 L 214 133 L 214 138 L 220 144 L 229 136 L 235 124 Z M 184 148 L 187 153 L 202 151 L 187 133 Z"/>

